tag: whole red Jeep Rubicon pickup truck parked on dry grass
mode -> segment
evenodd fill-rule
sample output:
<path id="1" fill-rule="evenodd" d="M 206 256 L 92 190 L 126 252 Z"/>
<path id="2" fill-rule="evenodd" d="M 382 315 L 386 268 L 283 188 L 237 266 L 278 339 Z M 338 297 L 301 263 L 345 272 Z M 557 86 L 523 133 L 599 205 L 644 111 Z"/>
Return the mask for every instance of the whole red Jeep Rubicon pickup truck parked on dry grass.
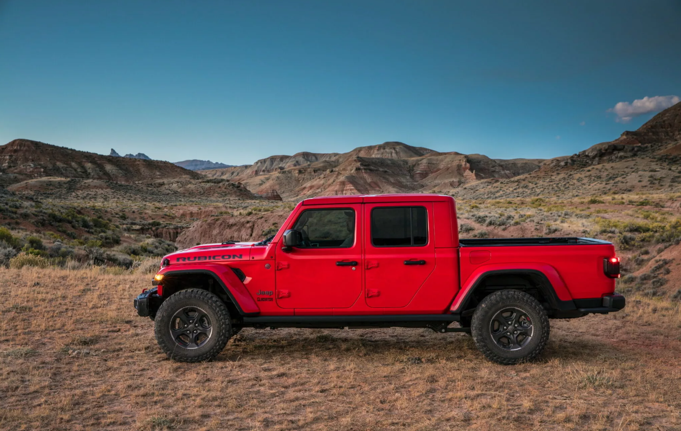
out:
<path id="1" fill-rule="evenodd" d="M 264 241 L 161 262 L 134 305 L 185 362 L 214 358 L 246 327 L 401 326 L 470 332 L 486 358 L 516 364 L 541 352 L 549 318 L 624 308 L 612 243 L 459 239 L 454 199 L 437 194 L 305 199 Z"/>

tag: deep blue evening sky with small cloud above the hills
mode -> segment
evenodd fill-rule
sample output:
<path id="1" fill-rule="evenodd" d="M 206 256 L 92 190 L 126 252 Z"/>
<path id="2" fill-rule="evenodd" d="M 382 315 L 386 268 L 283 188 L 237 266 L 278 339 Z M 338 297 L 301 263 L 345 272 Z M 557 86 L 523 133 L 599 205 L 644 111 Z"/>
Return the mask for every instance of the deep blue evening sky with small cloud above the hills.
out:
<path id="1" fill-rule="evenodd" d="M 680 20 L 678 0 L 0 0 L 0 143 L 552 158 L 679 101 Z"/>

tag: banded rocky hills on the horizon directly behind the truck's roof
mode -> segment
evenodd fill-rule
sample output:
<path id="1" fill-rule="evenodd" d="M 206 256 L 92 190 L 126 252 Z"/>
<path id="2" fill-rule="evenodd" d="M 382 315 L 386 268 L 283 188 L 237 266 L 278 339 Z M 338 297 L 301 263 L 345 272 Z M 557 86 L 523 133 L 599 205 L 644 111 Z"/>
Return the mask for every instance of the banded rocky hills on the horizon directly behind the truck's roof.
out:
<path id="1" fill-rule="evenodd" d="M 253 165 L 203 171 L 242 182 L 257 194 L 283 199 L 331 194 L 447 192 L 487 178 L 510 178 L 538 169 L 543 160 L 494 160 L 479 154 L 440 153 L 401 142 L 347 153 L 272 156 Z"/>

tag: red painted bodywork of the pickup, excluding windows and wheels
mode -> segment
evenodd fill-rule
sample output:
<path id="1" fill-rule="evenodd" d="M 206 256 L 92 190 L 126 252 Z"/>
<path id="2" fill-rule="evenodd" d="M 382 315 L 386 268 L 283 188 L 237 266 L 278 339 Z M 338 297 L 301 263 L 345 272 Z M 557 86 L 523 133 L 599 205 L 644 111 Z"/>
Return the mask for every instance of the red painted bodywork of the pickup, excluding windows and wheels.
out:
<path id="1" fill-rule="evenodd" d="M 424 207 L 428 243 L 375 247 L 371 211 L 376 207 Z M 303 211 L 314 208 L 355 211 L 352 247 L 294 247 L 284 252 L 281 238 Z M 165 256 L 159 273 L 211 271 L 245 313 L 259 315 L 442 314 L 458 310 L 475 283 L 490 271 L 539 271 L 563 301 L 601 298 L 615 281 L 603 273 L 612 258 L 609 243 L 588 245 L 488 245 L 460 247 L 456 204 L 438 194 L 329 196 L 298 203 L 271 243 L 208 244 Z M 407 265 L 405 260 L 424 260 Z M 356 261 L 338 266 L 336 262 Z M 240 269 L 244 282 L 232 268 Z"/>

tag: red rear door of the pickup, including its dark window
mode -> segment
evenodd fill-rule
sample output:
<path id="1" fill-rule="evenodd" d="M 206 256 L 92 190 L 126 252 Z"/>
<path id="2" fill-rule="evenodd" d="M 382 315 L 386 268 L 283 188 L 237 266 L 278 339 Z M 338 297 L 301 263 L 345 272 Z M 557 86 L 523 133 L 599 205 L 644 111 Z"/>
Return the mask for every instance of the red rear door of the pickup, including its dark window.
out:
<path id="1" fill-rule="evenodd" d="M 432 203 L 364 207 L 366 304 L 405 307 L 435 267 Z"/>

